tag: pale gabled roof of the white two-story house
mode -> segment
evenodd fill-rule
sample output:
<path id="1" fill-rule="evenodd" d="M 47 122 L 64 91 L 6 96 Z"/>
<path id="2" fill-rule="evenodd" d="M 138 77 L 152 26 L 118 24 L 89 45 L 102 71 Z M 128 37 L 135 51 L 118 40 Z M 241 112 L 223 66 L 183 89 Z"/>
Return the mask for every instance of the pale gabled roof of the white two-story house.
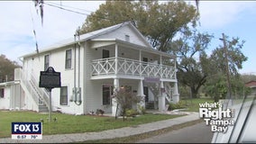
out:
<path id="1" fill-rule="evenodd" d="M 130 25 L 133 28 L 133 30 L 136 32 L 136 34 L 138 34 L 140 37 L 142 37 L 142 40 L 144 40 L 144 42 L 147 44 L 147 46 L 152 49 L 151 44 L 148 42 L 148 40 L 145 39 L 145 37 L 142 35 L 142 33 L 140 31 L 138 31 L 137 28 L 135 28 L 131 22 L 124 22 L 124 23 L 119 23 L 119 24 L 116 24 L 116 25 L 113 25 L 113 26 L 110 26 L 107 28 L 97 30 L 97 31 L 91 31 L 91 32 L 82 34 L 82 35 L 80 35 L 79 40 L 76 40 L 76 41 L 74 40 L 74 38 L 70 38 L 67 40 L 61 40 L 53 45 L 50 45 L 49 47 L 47 47 L 45 49 L 41 49 L 39 51 L 39 53 L 47 52 L 47 51 L 50 51 L 53 49 L 59 49 L 59 48 L 65 47 L 65 46 L 69 46 L 71 44 L 77 43 L 78 41 L 90 40 L 90 39 L 96 38 L 97 36 L 103 35 L 107 32 L 115 31 L 125 25 Z M 21 58 L 31 57 L 36 54 L 37 54 L 36 52 L 32 52 L 30 54 L 22 56 Z"/>

